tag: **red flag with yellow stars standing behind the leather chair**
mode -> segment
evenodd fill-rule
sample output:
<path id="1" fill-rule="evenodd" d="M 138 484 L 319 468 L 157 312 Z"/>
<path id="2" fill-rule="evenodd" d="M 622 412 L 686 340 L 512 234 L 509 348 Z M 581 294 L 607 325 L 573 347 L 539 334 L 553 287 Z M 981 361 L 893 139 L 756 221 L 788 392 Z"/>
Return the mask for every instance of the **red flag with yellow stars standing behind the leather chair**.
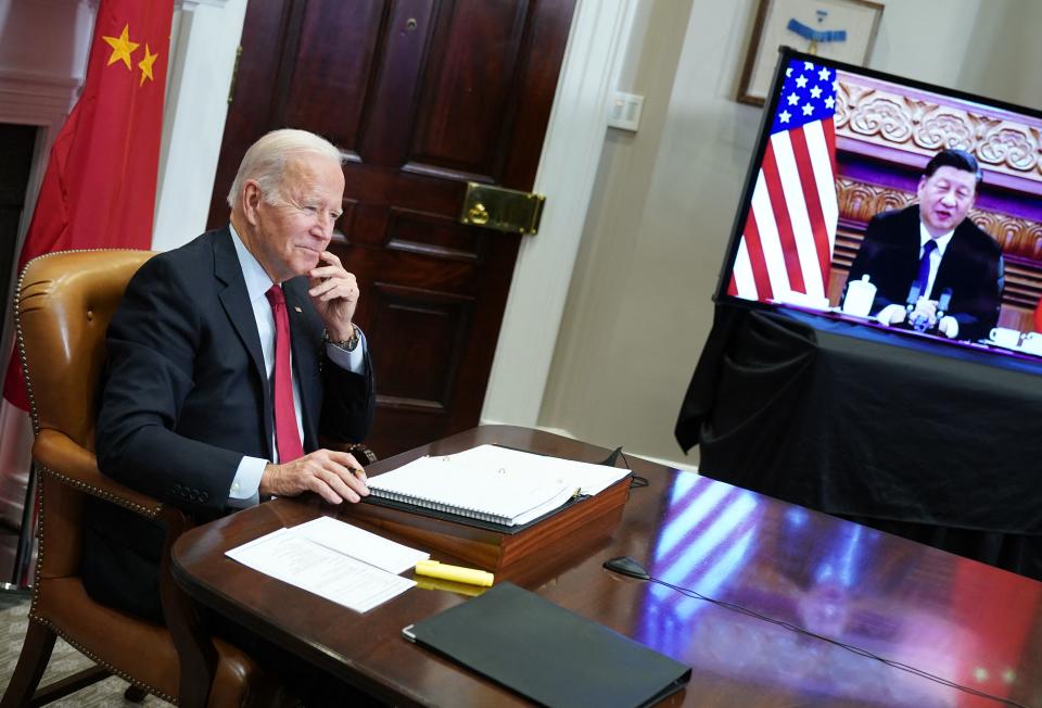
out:
<path id="1" fill-rule="evenodd" d="M 18 271 L 67 249 L 148 249 L 173 0 L 101 0 L 79 100 L 51 149 Z M 29 409 L 17 356 L 4 397 Z"/>

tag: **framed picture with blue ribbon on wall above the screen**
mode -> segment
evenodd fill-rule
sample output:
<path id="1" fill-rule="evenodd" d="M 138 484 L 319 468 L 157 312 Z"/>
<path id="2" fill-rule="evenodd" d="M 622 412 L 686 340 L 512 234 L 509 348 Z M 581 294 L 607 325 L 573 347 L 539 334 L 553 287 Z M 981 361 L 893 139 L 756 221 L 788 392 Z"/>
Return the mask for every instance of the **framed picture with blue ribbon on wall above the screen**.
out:
<path id="1" fill-rule="evenodd" d="M 882 3 L 868 0 L 760 0 L 738 100 L 763 105 L 782 46 L 864 65 L 881 17 Z"/>

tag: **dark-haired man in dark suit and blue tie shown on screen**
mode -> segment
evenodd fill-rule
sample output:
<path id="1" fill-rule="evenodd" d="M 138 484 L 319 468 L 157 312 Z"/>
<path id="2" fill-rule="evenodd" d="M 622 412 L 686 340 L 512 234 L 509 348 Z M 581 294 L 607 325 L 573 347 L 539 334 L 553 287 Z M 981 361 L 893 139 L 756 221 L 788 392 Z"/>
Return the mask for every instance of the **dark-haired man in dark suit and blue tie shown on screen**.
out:
<path id="1" fill-rule="evenodd" d="M 1002 249 L 966 218 L 981 180 L 977 160 L 942 150 L 926 165 L 918 204 L 877 214 L 850 268 L 876 286 L 873 316 L 884 325 L 988 337 L 1002 304 Z"/>

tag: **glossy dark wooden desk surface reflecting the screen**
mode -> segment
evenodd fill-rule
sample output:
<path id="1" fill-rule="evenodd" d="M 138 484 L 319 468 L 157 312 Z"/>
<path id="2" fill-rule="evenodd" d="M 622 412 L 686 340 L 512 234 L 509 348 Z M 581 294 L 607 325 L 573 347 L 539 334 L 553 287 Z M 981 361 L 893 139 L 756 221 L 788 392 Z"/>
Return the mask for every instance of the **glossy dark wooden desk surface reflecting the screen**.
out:
<path id="1" fill-rule="evenodd" d="M 608 451 L 538 431 L 490 426 L 381 460 L 500 443 L 599 462 Z M 689 472 L 628 457 L 631 491 L 610 539 L 558 548 L 497 576 L 694 668 L 676 706 L 999 706 L 762 619 L 601 568 L 630 555 L 653 577 L 733 603 L 1012 705 L 1042 706 L 1042 584 L 866 527 Z M 409 644 L 401 630 L 467 597 L 412 589 L 358 615 L 224 556 L 318 515 L 351 507 L 277 500 L 193 529 L 174 548 L 175 577 L 201 604 L 398 705 L 524 701 Z M 384 534 L 386 535 L 386 534 Z M 433 558 L 452 561 L 434 553 Z"/>

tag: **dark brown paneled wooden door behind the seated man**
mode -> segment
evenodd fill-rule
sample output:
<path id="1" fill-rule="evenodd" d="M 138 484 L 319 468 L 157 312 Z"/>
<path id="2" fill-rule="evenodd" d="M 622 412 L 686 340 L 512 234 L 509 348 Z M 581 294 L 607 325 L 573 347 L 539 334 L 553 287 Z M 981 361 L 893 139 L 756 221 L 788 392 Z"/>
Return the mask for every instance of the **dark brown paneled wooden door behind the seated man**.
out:
<path id="1" fill-rule="evenodd" d="M 574 4 L 249 4 L 211 226 L 266 131 L 305 128 L 346 152 L 331 249 L 361 283 L 380 456 L 478 422 L 521 237 L 457 219 L 468 180 L 531 190 Z"/>

